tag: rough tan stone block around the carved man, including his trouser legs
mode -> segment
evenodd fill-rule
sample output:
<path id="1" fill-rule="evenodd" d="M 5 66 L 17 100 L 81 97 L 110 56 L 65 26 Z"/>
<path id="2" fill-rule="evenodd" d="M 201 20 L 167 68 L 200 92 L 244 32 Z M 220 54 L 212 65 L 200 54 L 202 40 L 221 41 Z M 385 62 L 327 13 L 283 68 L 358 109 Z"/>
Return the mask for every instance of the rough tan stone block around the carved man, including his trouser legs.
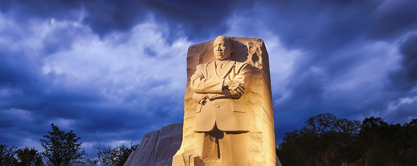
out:
<path id="1" fill-rule="evenodd" d="M 244 124 L 247 125 L 249 132 L 233 134 L 220 131 L 210 135 L 194 132 L 196 110 L 200 105 L 193 99 L 194 92 L 190 87 L 191 76 L 196 72 L 197 65 L 215 61 L 214 40 L 190 46 L 187 56 L 188 80 L 184 97 L 183 140 L 181 148 L 173 156 L 173 166 L 231 166 L 236 165 L 233 163 L 245 162 L 249 164 L 244 165 L 250 166 L 276 165 L 271 81 L 264 41 L 244 37 L 231 37 L 231 39 L 234 40 L 232 60 L 251 65 L 250 85 L 245 87 L 244 94 L 239 98 L 239 103 L 245 107 L 245 113 L 241 113 L 245 114 Z M 216 91 L 213 93 L 216 94 Z M 216 118 L 227 119 L 227 117 Z M 241 119 L 234 121 L 239 120 Z M 219 155 L 219 149 L 216 149 L 219 147 L 214 147 L 216 144 L 223 149 L 229 146 L 227 151 L 230 154 L 222 154 L 221 161 L 213 159 Z"/>

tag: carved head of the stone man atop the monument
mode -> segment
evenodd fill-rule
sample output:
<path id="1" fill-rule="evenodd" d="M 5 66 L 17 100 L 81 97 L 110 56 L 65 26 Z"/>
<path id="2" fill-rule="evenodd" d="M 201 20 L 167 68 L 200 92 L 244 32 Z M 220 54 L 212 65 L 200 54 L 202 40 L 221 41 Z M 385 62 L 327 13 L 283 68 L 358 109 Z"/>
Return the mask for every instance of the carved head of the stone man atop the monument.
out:
<path id="1" fill-rule="evenodd" d="M 217 60 L 229 60 L 230 53 L 234 51 L 233 46 L 229 40 L 224 36 L 219 36 L 214 40 L 214 58 Z"/>

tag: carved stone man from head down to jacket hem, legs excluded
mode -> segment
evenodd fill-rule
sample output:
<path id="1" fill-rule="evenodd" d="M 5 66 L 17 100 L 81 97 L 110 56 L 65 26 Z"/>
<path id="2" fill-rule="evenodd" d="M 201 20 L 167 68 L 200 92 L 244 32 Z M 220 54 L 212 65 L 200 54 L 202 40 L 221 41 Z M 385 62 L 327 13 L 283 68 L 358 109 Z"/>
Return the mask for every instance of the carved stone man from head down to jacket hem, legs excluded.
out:
<path id="1" fill-rule="evenodd" d="M 199 103 L 194 131 L 211 132 L 217 127 L 224 132 L 248 132 L 239 98 L 251 83 L 250 65 L 231 61 L 234 48 L 228 37 L 217 37 L 213 51 L 216 61 L 198 65 L 191 77 L 193 98 Z"/>

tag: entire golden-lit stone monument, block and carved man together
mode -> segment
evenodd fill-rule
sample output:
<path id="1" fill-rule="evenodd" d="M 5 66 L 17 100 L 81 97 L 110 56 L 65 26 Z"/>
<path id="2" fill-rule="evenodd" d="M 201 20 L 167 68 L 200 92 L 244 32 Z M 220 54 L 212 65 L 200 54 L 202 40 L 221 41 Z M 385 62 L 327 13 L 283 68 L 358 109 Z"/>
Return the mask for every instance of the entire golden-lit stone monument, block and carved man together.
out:
<path id="1" fill-rule="evenodd" d="M 272 106 L 262 39 L 219 36 L 190 46 L 172 166 L 279 166 Z"/>

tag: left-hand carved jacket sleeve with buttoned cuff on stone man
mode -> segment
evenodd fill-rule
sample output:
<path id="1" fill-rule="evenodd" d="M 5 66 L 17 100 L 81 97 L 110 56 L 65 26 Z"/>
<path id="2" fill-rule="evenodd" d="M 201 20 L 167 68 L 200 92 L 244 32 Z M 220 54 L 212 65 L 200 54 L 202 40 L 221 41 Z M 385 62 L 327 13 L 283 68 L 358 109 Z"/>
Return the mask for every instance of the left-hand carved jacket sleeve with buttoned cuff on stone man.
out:
<path id="1" fill-rule="evenodd" d="M 196 72 L 191 76 L 191 90 L 195 93 L 217 93 L 221 94 L 223 90 L 224 79 L 205 78 L 203 76 L 203 65 L 197 65 Z"/>

